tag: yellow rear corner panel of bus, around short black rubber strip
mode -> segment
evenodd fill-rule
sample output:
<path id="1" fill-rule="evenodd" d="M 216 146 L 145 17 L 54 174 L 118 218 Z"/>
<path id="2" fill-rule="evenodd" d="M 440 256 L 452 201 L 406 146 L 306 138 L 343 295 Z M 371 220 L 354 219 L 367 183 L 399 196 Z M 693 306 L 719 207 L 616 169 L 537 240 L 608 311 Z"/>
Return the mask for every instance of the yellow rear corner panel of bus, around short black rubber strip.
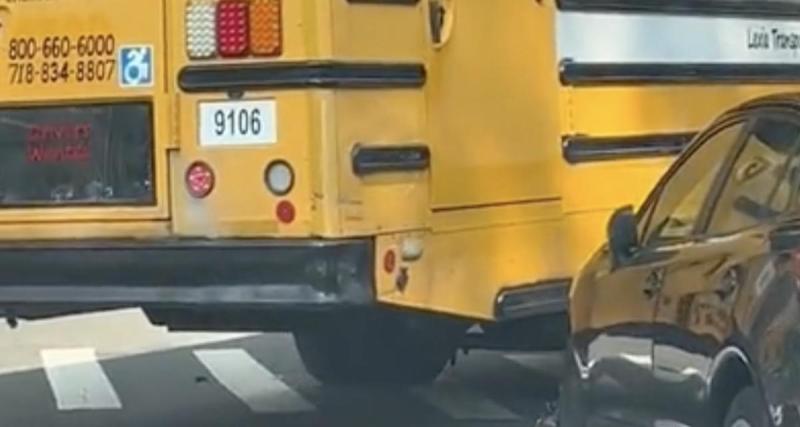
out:
<path id="1" fill-rule="evenodd" d="M 336 147 L 331 167 L 336 188 L 315 191 L 317 202 L 332 207 L 338 221 L 321 224 L 326 235 L 355 236 L 419 230 L 429 213 L 429 167 L 398 171 L 377 167 L 356 171 L 356 154 L 381 148 L 428 149 L 422 89 L 391 83 L 392 67 L 422 65 L 426 49 L 425 3 L 381 4 L 328 0 L 331 5 L 331 55 L 337 61 L 383 64 L 384 82 L 375 89 L 339 89 L 325 97 L 327 132 L 323 147 Z M 424 85 L 424 74 L 419 86 Z M 328 181 L 318 181 L 318 187 Z M 327 200 L 325 200 L 327 199 Z M 328 212 L 332 212 L 329 210 Z"/>

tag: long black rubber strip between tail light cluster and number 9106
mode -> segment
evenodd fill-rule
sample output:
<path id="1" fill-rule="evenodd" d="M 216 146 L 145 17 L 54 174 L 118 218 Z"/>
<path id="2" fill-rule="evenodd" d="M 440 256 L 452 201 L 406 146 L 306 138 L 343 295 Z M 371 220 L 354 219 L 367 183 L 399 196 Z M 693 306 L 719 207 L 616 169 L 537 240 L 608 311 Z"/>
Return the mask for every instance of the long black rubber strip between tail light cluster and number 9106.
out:
<path id="1" fill-rule="evenodd" d="M 425 80 L 422 64 L 349 62 L 189 66 L 178 76 L 186 92 L 419 88 Z"/>

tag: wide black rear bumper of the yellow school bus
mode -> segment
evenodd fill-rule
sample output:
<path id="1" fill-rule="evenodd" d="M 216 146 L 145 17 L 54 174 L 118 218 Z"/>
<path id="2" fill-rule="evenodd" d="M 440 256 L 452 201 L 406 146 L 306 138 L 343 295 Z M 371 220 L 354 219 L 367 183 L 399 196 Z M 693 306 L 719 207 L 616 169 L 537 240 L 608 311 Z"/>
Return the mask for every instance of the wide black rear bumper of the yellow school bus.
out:
<path id="1" fill-rule="evenodd" d="M 369 240 L 0 243 L 0 315 L 363 306 L 375 300 L 372 251 Z"/>

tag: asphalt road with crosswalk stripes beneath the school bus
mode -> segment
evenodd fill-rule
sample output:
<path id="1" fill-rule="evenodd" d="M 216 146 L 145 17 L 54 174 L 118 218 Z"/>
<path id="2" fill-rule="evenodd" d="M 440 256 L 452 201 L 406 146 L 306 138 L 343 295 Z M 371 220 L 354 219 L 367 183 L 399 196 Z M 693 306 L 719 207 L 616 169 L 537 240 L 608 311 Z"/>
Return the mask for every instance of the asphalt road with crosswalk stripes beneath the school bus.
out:
<path id="1" fill-rule="evenodd" d="M 322 387 L 288 334 L 170 334 L 137 310 L 0 327 L 0 426 L 526 426 L 553 355 L 471 352 L 430 387 Z"/>

